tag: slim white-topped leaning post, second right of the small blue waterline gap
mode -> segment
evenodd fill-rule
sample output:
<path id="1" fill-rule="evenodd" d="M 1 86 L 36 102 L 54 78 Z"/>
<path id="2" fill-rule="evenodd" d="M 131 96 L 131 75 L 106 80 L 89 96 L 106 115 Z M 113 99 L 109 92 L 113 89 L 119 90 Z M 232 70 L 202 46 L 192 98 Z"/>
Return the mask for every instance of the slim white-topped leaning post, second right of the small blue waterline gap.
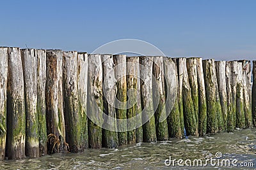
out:
<path id="1" fill-rule="evenodd" d="M 207 132 L 207 103 L 202 58 L 196 58 L 196 67 L 198 83 L 198 131 L 200 136 L 205 136 Z"/>

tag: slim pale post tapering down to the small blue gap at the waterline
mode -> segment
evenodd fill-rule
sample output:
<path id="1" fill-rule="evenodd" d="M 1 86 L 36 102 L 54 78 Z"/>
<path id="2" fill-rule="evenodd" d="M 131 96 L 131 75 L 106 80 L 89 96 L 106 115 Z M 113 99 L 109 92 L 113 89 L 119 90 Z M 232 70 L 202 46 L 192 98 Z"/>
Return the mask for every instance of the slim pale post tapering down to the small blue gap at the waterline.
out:
<path id="1" fill-rule="evenodd" d="M 178 92 L 178 101 L 179 101 L 179 112 L 180 112 L 180 127 L 181 134 L 184 136 L 185 125 L 184 125 L 184 111 L 183 111 L 183 98 L 182 98 L 182 87 L 183 87 L 183 64 L 186 63 L 186 58 L 177 58 L 177 71 L 178 71 L 178 80 L 179 80 L 179 92 Z"/>

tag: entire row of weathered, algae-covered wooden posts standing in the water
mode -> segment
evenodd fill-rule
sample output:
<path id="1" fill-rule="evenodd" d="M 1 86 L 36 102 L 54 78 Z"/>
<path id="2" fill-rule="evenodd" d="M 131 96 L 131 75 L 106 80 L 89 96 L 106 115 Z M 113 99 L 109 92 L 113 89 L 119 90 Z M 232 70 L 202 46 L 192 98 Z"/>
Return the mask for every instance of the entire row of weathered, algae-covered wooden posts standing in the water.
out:
<path id="1" fill-rule="evenodd" d="M 126 66 L 127 62 L 135 63 L 134 67 Z M 118 64 L 121 67 L 116 68 Z M 253 127 L 255 61 L 253 86 L 251 76 L 248 60 L 126 57 L 1 47 L 0 159 L 115 148 Z M 115 90 L 109 90 L 108 85 Z M 136 89 L 136 93 L 127 97 L 129 89 Z M 170 97 L 166 97 L 168 91 Z M 107 100 L 115 97 L 121 105 L 134 104 L 127 109 L 115 108 Z M 153 114 L 142 115 L 140 121 L 147 122 L 130 131 L 125 131 L 130 124 L 111 122 L 124 129 L 116 132 L 95 122 L 102 120 L 98 108 L 119 119 L 135 117 L 144 109 Z M 164 114 L 168 117 L 160 120 Z M 108 121 L 105 119 L 104 124 Z"/>

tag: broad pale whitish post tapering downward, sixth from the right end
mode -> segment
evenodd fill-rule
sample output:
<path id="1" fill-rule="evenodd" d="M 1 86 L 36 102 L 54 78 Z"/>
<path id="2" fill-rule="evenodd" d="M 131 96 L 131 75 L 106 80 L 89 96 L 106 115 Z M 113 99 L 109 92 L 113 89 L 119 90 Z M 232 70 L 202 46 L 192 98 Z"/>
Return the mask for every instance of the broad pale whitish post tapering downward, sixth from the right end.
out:
<path id="1" fill-rule="evenodd" d="M 227 130 L 227 85 L 226 85 L 226 62 L 216 61 L 216 75 L 220 94 L 221 111 L 223 115 L 223 130 Z"/>

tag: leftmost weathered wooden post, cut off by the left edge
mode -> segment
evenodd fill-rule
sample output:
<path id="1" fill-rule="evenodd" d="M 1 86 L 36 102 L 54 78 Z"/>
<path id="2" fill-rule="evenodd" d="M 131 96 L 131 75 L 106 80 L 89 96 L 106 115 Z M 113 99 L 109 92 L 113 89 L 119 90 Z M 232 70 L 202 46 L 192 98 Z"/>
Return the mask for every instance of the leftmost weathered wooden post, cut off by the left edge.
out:
<path id="1" fill-rule="evenodd" d="M 0 160 L 6 146 L 6 86 L 8 74 L 8 48 L 0 47 Z"/>

